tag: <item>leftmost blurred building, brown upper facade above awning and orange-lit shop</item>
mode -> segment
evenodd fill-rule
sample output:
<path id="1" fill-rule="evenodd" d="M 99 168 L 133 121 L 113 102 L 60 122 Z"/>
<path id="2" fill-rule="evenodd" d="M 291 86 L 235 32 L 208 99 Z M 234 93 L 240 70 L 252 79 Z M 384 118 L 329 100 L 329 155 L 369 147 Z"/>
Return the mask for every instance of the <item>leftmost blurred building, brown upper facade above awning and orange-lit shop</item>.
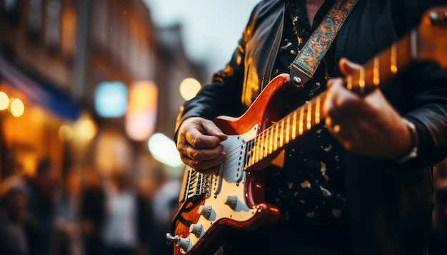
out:
<path id="1" fill-rule="evenodd" d="M 76 123 L 82 110 L 71 87 L 75 30 L 74 1 L 0 1 L 0 90 L 6 93 L 1 175 L 32 175 L 45 155 L 62 168 L 66 150 L 59 128 Z M 19 102 L 18 113 L 13 100 Z"/>

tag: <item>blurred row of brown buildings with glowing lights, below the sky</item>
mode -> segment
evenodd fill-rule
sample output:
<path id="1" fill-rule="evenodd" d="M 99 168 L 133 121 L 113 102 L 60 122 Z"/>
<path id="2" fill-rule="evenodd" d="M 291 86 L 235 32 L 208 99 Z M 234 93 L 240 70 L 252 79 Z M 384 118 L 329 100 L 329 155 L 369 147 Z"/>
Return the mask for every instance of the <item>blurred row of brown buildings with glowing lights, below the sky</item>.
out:
<path id="1" fill-rule="evenodd" d="M 149 179 L 169 169 L 147 141 L 172 137 L 181 81 L 204 81 L 180 29 L 155 28 L 141 0 L 0 0 L 0 180 L 32 175 L 45 155 L 59 179 L 72 169 Z M 99 98 L 100 87 L 125 97 Z M 101 114 L 103 101 L 124 110 Z"/>

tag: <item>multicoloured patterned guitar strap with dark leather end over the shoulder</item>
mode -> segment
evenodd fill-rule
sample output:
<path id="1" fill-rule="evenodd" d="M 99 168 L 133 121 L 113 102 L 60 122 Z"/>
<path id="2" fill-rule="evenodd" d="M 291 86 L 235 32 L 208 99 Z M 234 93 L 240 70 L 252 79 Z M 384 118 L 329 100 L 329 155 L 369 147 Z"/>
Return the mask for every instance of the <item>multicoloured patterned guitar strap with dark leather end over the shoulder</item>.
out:
<path id="1" fill-rule="evenodd" d="M 321 24 L 313 31 L 301 51 L 291 64 L 290 75 L 293 85 L 302 88 L 321 63 L 333 39 L 351 13 L 358 0 L 336 0 Z"/>

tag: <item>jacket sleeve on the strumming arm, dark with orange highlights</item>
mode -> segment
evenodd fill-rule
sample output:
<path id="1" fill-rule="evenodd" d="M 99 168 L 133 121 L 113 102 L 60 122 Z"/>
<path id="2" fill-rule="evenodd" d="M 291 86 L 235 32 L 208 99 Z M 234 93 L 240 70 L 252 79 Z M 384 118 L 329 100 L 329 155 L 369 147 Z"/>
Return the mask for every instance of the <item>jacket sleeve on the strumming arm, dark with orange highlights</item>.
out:
<path id="1" fill-rule="evenodd" d="M 243 31 L 242 38 L 238 41 L 238 46 L 226 68 L 214 73 L 211 83 L 204 85 L 196 97 L 181 106 L 180 113 L 176 119 L 174 140 L 177 138 L 180 124 L 186 118 L 201 117 L 212 119 L 218 115 L 237 116 L 241 115 L 243 110 L 245 110 L 241 104 L 245 73 L 244 62 L 246 45 L 250 40 L 251 31 L 256 21 L 256 9 L 258 9 L 258 6 L 253 9 L 248 24 Z"/>

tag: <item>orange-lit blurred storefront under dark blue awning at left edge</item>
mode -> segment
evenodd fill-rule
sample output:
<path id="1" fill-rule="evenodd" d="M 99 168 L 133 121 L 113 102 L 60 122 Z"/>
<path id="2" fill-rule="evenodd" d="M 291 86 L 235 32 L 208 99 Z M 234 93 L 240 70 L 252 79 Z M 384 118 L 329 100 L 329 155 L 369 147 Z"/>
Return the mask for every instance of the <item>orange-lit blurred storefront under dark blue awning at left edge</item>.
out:
<path id="1" fill-rule="evenodd" d="M 34 175 L 41 157 L 54 161 L 56 179 L 64 167 L 65 141 L 61 127 L 78 120 L 80 108 L 67 95 L 32 78 L 0 58 L 1 175 Z"/>

